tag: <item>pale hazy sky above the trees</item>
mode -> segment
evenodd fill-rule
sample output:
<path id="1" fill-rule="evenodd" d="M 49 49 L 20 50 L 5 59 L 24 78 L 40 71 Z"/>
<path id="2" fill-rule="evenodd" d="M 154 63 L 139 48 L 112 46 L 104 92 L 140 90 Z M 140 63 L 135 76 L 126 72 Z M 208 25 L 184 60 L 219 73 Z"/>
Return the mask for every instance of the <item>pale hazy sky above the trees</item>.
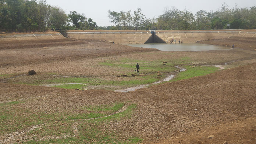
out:
<path id="1" fill-rule="evenodd" d="M 163 14 L 166 7 L 176 7 L 179 10 L 185 8 L 195 14 L 199 10 L 216 11 L 223 3 L 230 8 L 237 4 L 241 8 L 256 6 L 256 0 L 47 0 L 47 4 L 61 7 L 67 14 L 77 11 L 92 18 L 98 26 L 114 25 L 110 23 L 107 11 L 131 10 L 131 14 L 137 8 L 141 8 L 146 18 L 158 17 Z"/>

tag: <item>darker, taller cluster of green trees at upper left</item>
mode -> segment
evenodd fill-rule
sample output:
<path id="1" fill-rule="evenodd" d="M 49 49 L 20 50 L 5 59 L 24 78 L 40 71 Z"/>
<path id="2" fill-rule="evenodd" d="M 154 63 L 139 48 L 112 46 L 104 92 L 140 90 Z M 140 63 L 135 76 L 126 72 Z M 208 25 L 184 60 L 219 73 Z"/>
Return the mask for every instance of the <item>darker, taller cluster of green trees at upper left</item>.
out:
<path id="1" fill-rule="evenodd" d="M 72 23 L 72 25 L 71 25 Z M 46 30 L 96 29 L 84 14 L 70 14 L 46 0 L 0 0 L 0 32 L 45 32 Z"/>

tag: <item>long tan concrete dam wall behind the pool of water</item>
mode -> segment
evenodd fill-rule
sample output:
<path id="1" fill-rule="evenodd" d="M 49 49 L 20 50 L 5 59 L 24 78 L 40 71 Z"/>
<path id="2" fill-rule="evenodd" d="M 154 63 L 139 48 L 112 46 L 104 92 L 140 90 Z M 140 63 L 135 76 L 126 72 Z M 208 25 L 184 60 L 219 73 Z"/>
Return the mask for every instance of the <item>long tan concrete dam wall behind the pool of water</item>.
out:
<path id="1" fill-rule="evenodd" d="M 242 32 L 239 30 L 208 30 L 208 31 L 156 31 L 152 32 L 68 32 L 68 37 L 79 40 L 99 40 L 115 42 L 117 44 L 144 44 L 144 43 L 170 43 L 172 39 L 183 43 L 196 43 L 196 41 L 224 39 L 232 36 L 255 37 L 256 32 Z"/>

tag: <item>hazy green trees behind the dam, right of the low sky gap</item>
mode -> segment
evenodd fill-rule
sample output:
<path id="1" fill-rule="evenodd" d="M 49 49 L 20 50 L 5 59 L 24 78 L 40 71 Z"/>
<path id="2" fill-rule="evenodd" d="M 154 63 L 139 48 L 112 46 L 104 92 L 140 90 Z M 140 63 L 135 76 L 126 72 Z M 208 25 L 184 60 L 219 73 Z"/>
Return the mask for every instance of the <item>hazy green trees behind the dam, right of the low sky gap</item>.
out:
<path id="1" fill-rule="evenodd" d="M 228 8 L 223 3 L 217 11 L 200 10 L 194 15 L 173 7 L 166 9 L 158 18 L 146 19 L 140 8 L 131 11 L 108 11 L 114 26 L 98 27 L 112 30 L 191 30 L 191 29 L 256 29 L 256 7 Z M 227 25 L 229 24 L 229 26 Z"/>

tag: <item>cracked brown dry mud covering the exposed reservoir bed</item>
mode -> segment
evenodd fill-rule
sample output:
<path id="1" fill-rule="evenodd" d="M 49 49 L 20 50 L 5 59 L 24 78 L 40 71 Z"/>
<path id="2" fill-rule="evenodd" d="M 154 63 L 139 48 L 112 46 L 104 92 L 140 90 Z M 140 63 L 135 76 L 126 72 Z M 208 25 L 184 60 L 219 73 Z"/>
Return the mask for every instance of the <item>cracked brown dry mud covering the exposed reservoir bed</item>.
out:
<path id="1" fill-rule="evenodd" d="M 252 45 L 254 44 L 252 43 Z M 99 46 L 101 50 L 93 50 L 90 45 Z M 37 69 L 39 75 L 47 71 L 64 76 L 129 80 L 129 77 L 117 77 L 120 73 L 113 72 L 117 69 L 109 70 L 98 63 L 104 62 L 106 59 L 123 58 L 149 61 L 168 59 L 170 62 L 174 62 L 172 60 L 181 57 L 189 57 L 191 62 L 186 64 L 195 64 L 195 66 L 222 65 L 234 60 L 239 61 L 224 66 L 225 70 L 216 73 L 153 85 L 128 93 L 104 89 L 74 91 L 72 89 L 0 83 L 0 104 L 21 101 L 21 103 L 12 105 L 15 107 L 1 105 L 0 111 L 11 108 L 10 110 L 16 110 L 14 115 L 26 118 L 33 114 L 84 114 L 89 111 L 81 109 L 81 107 L 111 106 L 114 103 L 125 103 L 118 111 L 107 112 L 107 116 L 110 116 L 125 111 L 130 104 L 136 104 L 136 108 L 132 109 L 129 117 L 110 119 L 110 121 L 99 125 L 93 123 L 88 125 L 93 125 L 103 133 L 114 131 L 118 139 L 124 141 L 130 137 L 140 137 L 143 139 L 141 143 L 215 144 L 224 143 L 224 141 L 229 144 L 256 143 L 255 55 L 241 51 L 161 52 L 154 49 L 132 48 L 122 45 L 111 45 L 114 48 L 109 48 L 109 45 L 111 44 L 82 41 L 78 45 L 63 46 L 65 51 L 62 51 L 63 49 L 58 46 L 51 47 L 50 44 L 48 45 L 49 51 L 29 46 L 28 49 L 22 49 L 32 53 L 20 57 L 15 56 L 15 53 L 20 51 L 19 48 L 0 49 L 4 53 L 1 53 L 1 56 L 10 53 L 9 56 L 5 56 L 1 60 L 0 74 L 20 74 L 25 73 L 28 69 Z M 82 51 L 82 48 L 86 48 L 86 50 Z M 49 54 L 53 51 L 57 52 L 56 55 L 47 55 L 44 58 L 35 55 L 40 51 Z M 71 53 L 72 51 L 74 53 Z M 171 54 L 171 56 L 166 53 Z M 83 56 L 88 57 L 84 58 Z M 28 59 L 29 57 L 32 59 Z M 83 63 L 86 64 L 81 67 Z M 91 69 L 93 66 L 99 69 L 99 72 L 94 73 Z M 139 77 L 137 78 L 139 79 Z M 28 110 L 30 113 L 19 112 L 20 110 Z M 54 121 L 49 119 L 45 123 L 49 123 L 53 127 Z M 57 121 L 58 124 L 64 122 L 61 119 Z M 66 135 L 61 135 L 63 134 L 61 133 L 60 136 L 57 134 L 41 136 L 42 133 L 29 133 L 42 124 L 24 125 L 24 128 L 14 130 L 14 132 L 10 127 L 10 129 L 2 131 L 0 143 L 22 143 L 32 140 L 33 137 L 36 137 L 36 140 L 65 139 L 67 137 L 78 139 L 79 125 L 84 124 L 84 119 L 71 120 L 71 122 L 67 124 L 67 127 L 70 126 L 71 128 L 71 132 Z M 22 122 L 15 121 L 1 121 L 0 123 L 1 126 L 10 125 L 14 128 L 15 123 L 22 124 Z M 210 135 L 215 137 L 208 139 L 207 137 Z"/>

